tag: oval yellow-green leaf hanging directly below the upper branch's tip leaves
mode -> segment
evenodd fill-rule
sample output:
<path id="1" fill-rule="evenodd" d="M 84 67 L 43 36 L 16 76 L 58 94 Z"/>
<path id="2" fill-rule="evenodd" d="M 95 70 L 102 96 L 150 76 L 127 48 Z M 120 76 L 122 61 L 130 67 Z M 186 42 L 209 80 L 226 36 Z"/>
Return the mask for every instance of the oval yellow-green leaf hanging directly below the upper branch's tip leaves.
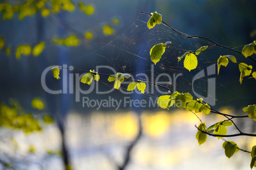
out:
<path id="1" fill-rule="evenodd" d="M 155 64 L 159 62 L 160 58 L 164 54 L 164 51 L 166 51 L 166 44 L 163 44 L 163 43 L 155 44 L 155 46 L 153 46 L 150 49 L 150 56 L 151 56 L 152 62 Z"/>

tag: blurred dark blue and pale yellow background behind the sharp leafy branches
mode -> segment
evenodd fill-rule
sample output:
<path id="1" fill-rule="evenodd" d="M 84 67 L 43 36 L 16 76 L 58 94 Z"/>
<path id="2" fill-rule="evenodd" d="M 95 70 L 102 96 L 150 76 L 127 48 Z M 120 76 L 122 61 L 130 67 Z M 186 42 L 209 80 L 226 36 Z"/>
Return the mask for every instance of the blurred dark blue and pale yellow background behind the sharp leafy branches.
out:
<path id="1" fill-rule="evenodd" d="M 123 72 L 141 80 L 148 75 L 150 81 L 165 73 L 158 81 L 195 98 L 194 91 L 208 95 L 208 79 L 214 77 L 211 107 L 245 115 L 241 109 L 255 103 L 255 80 L 245 77 L 240 84 L 238 65 L 233 63 L 222 67 L 219 75 L 208 77 L 206 69 L 220 55 L 234 55 L 253 67 L 255 63 L 214 48 L 203 51 L 198 68 L 188 72 L 177 62 L 183 51 L 166 48 L 160 62 L 153 65 L 149 51 L 157 43 L 171 41 L 173 47 L 189 50 L 211 43 L 186 39 L 163 24 L 148 30 L 150 16 L 141 11 L 157 11 L 174 29 L 241 51 L 255 41 L 255 6 L 254 0 L 1 2 L 0 169 L 249 169 L 250 154 L 240 151 L 228 159 L 223 140 L 208 136 L 199 146 L 194 125 L 200 121 L 194 114 L 157 107 L 157 97 L 169 94 L 165 89 L 147 85 L 144 95 L 124 94 L 127 84 L 121 91 L 111 91 L 113 82 L 108 77 L 101 76 L 89 86 L 80 82 L 84 72 L 60 69 L 57 80 L 51 69 L 58 65 L 104 74 Z M 192 82 L 201 70 L 206 76 Z M 131 100 L 146 105 L 138 107 Z M 101 101 L 108 104 L 99 106 Z M 120 107 L 115 101 L 120 101 Z M 207 126 L 225 119 L 197 115 Z M 245 132 L 255 131 L 251 119 L 236 123 Z M 230 127 L 228 133 L 238 132 Z M 249 151 L 256 141 L 227 140 Z"/>

